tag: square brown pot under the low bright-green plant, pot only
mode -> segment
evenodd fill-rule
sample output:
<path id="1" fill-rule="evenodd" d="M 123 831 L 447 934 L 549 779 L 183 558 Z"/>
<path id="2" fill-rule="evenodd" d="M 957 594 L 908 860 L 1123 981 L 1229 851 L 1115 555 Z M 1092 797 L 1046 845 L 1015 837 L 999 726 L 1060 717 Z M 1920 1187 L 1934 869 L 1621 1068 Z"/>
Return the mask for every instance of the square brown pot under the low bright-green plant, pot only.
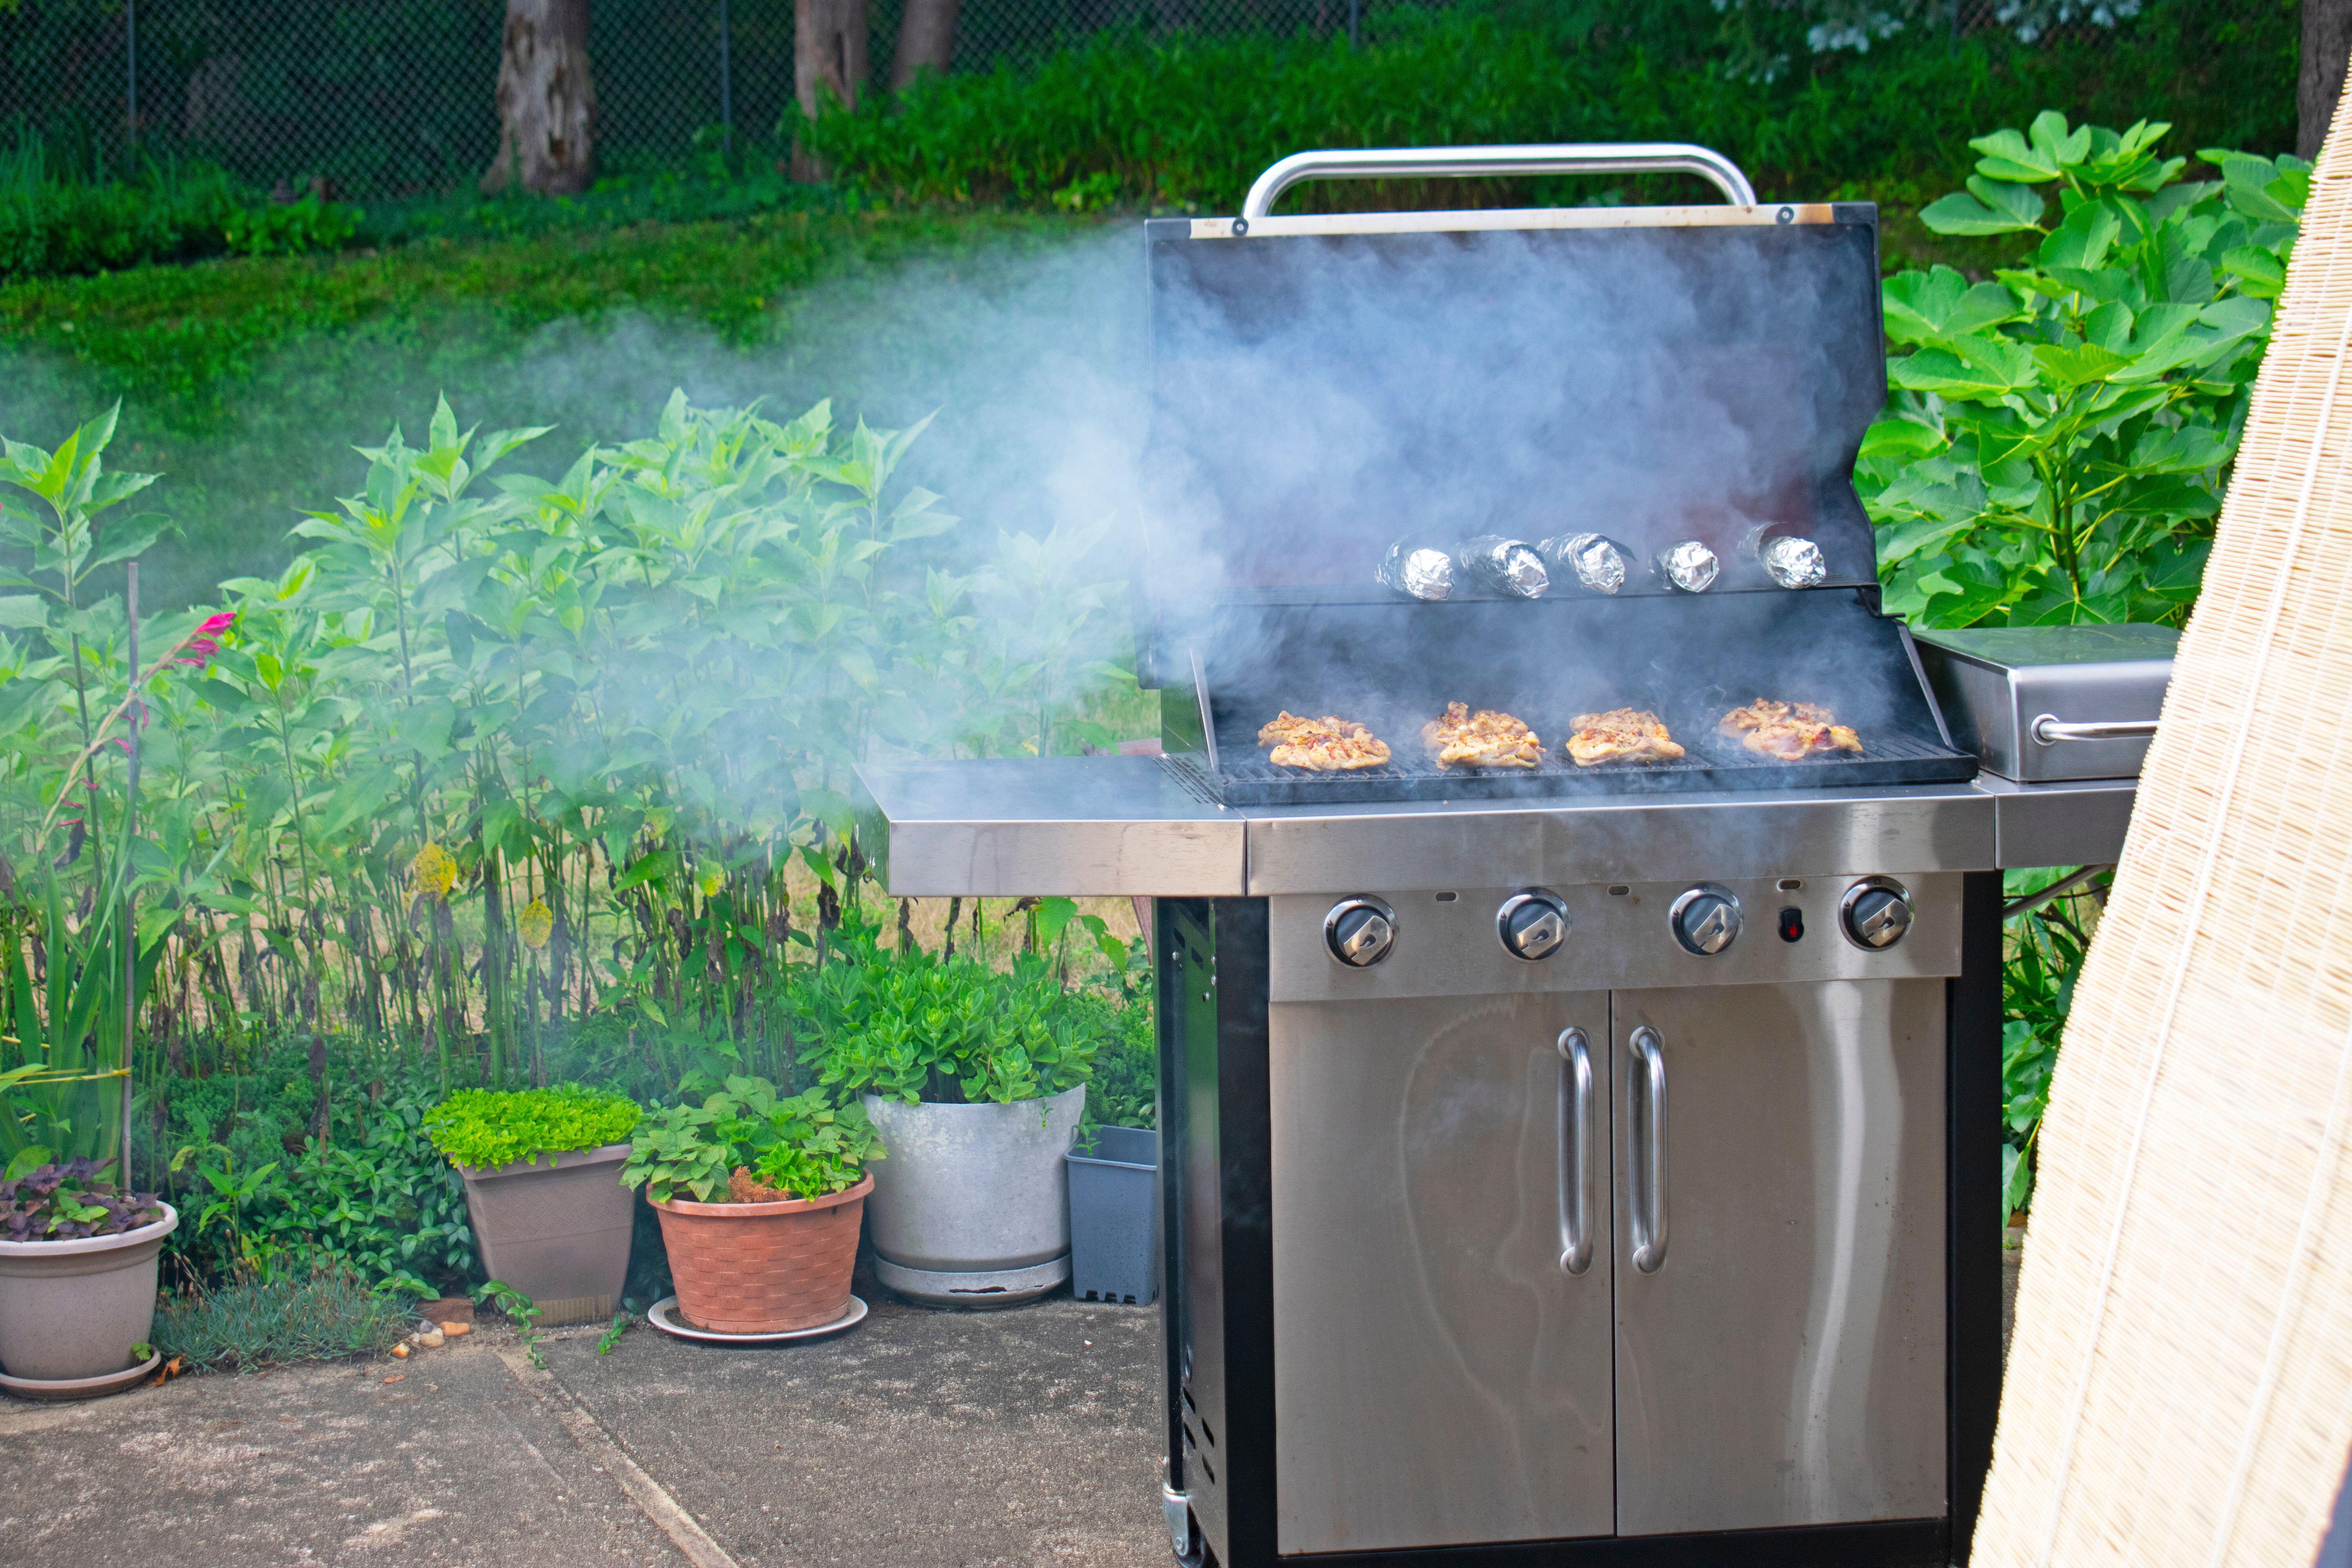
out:
<path id="1" fill-rule="evenodd" d="M 459 1166 L 482 1269 L 539 1307 L 539 1326 L 595 1324 L 621 1305 L 637 1194 L 621 1185 L 626 1143 Z"/>

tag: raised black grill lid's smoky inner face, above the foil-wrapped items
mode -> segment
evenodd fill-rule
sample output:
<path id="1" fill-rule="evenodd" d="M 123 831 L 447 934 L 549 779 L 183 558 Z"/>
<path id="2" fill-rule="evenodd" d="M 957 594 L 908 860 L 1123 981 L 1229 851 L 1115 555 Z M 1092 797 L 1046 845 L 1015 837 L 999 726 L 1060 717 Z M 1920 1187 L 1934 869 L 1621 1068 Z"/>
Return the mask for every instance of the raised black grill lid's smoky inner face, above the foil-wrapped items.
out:
<path id="1" fill-rule="evenodd" d="M 1771 529 L 1877 581 L 1870 205 L 1160 219 L 1145 259 L 1157 644 L 1237 590 L 1369 588 L 1399 538 L 1595 531 L 1628 592 L 1696 538 L 1724 592 L 1771 588 Z"/>

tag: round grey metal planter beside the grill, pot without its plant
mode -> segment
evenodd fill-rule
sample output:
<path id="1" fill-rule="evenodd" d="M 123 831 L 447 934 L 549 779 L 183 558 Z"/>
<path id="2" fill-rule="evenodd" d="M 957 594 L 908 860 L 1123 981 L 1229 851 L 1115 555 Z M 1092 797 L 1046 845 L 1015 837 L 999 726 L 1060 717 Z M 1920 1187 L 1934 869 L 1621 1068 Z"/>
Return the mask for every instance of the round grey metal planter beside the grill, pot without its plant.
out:
<path id="1" fill-rule="evenodd" d="M 1011 1105 L 866 1095 L 875 1164 L 875 1274 L 941 1307 L 1011 1307 L 1070 1279 L 1063 1154 L 1084 1088 Z"/>

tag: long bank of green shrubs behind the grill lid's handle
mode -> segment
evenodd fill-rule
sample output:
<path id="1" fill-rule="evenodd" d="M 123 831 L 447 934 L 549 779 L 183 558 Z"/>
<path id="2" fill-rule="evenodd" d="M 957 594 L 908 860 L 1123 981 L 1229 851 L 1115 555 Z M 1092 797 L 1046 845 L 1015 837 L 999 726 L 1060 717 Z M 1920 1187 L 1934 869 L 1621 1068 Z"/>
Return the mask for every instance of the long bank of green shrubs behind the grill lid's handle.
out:
<path id="1" fill-rule="evenodd" d="M 1785 9 L 1785 7 L 1780 7 Z M 1912 205 L 1957 176 L 1962 141 L 2044 103 L 2126 108 L 2209 143 L 2293 136 L 2291 14 L 2213 16 L 2169 0 L 2112 38 L 2025 47 L 1912 31 L 1867 54 L 1757 71 L 1755 19 L 1708 0 L 1625 7 L 1470 2 L 1374 12 L 1345 38 L 1096 33 L 1037 61 L 870 94 L 800 127 L 837 179 L 891 200 L 1230 212 L 1249 181 L 1315 146 L 1700 141 L 1771 197 Z M 1783 19 L 1785 21 L 1785 19 Z M 1764 40 L 1790 54 L 1790 40 Z M 797 120 L 797 110 L 788 122 Z M 1637 193 L 1682 193 L 1644 181 Z M 1287 209 L 1588 200 L 1595 181 L 1305 186 Z"/>

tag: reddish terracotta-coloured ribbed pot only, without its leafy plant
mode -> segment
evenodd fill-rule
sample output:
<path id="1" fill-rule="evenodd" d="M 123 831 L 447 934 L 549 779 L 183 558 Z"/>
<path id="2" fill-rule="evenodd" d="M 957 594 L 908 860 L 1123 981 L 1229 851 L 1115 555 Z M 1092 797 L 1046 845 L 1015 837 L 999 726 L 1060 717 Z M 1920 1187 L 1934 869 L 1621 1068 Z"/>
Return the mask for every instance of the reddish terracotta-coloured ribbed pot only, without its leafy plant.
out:
<path id="1" fill-rule="evenodd" d="M 849 1312 L 858 1220 L 875 1178 L 790 1204 L 654 1204 L 677 1312 L 710 1333 L 818 1328 Z"/>

